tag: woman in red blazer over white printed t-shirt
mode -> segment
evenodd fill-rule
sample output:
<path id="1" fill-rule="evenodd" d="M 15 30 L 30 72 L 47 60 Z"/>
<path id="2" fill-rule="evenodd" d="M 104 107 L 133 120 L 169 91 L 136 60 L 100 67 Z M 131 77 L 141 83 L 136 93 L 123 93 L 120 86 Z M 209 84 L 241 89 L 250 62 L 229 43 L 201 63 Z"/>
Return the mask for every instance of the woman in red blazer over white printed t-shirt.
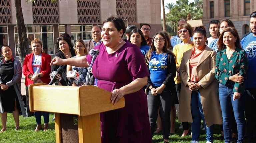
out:
<path id="1" fill-rule="evenodd" d="M 42 52 L 42 42 L 35 38 L 31 41 L 32 53 L 26 55 L 23 63 L 23 74 L 25 75 L 25 85 L 29 86 L 33 83 L 46 83 L 48 84 L 50 79 L 51 56 Z M 41 113 L 44 116 L 44 131 L 48 129 L 49 112 L 36 111 L 36 129 L 35 132 L 41 130 Z"/>

